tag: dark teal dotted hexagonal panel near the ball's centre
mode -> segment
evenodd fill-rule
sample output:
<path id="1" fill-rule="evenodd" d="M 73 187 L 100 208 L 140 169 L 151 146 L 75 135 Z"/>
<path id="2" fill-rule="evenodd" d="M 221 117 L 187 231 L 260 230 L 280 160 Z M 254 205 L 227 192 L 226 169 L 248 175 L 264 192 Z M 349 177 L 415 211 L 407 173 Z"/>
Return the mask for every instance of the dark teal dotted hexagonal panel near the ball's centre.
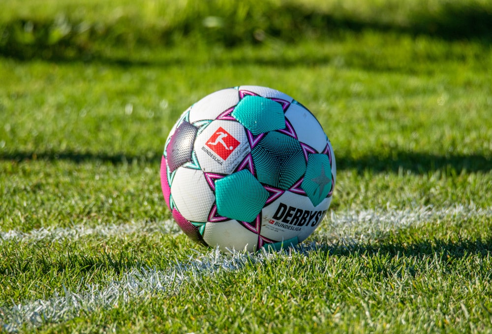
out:
<path id="1" fill-rule="evenodd" d="M 287 190 L 306 171 L 306 159 L 299 141 L 286 134 L 269 132 L 251 150 L 258 181 Z"/>

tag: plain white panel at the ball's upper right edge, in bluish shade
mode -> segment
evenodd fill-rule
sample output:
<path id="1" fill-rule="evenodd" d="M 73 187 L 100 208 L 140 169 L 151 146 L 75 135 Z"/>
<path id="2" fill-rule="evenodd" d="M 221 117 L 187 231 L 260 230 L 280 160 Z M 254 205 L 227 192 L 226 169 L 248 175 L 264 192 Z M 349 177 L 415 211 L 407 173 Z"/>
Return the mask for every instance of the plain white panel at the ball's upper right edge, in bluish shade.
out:
<path id="1" fill-rule="evenodd" d="M 300 142 L 314 148 L 318 153 L 326 147 L 326 134 L 318 120 L 299 104 L 291 104 L 285 112 Z"/>

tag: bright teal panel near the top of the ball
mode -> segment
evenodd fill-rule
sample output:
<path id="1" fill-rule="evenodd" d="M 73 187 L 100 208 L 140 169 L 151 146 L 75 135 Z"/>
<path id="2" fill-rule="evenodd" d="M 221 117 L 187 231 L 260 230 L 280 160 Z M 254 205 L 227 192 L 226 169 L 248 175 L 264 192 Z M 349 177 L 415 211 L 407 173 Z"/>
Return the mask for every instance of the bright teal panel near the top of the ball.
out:
<path id="1" fill-rule="evenodd" d="M 261 96 L 245 96 L 231 115 L 254 135 L 285 128 L 280 103 Z"/>

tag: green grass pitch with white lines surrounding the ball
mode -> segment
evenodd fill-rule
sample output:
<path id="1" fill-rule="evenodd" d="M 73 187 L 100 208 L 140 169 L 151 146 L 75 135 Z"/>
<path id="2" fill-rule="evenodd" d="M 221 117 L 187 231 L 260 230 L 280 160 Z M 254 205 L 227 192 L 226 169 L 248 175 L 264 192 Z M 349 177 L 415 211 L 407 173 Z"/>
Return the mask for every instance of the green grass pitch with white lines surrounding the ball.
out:
<path id="1" fill-rule="evenodd" d="M 229 2 L 173 3 L 7 1 L 2 329 L 491 332 L 492 48 L 478 19 L 490 4 L 243 1 L 229 31 Z M 461 34 L 456 8 L 474 18 Z M 60 13 L 93 33 L 48 43 Z M 208 16 L 223 26 L 204 29 Z M 296 249 L 220 255 L 168 221 L 158 170 L 170 128 L 240 84 L 299 100 L 334 146 L 332 206 Z"/>

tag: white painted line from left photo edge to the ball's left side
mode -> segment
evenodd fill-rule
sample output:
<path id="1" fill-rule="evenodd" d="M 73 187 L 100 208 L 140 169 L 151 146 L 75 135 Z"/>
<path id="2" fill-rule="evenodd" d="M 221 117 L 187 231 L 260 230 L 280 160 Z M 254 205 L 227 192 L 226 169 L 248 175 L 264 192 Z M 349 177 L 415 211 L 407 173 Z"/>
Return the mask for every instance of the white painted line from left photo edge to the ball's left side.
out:
<path id="1" fill-rule="evenodd" d="M 33 241 L 55 242 L 70 240 L 76 241 L 86 236 L 116 236 L 134 233 L 154 233 L 175 234 L 181 230 L 173 220 L 163 222 L 137 221 L 126 224 L 108 224 L 89 227 L 84 225 L 73 225 L 66 228 L 40 228 L 29 232 L 10 230 L 7 232 L 0 231 L 0 245 L 6 241 L 27 243 Z"/>

